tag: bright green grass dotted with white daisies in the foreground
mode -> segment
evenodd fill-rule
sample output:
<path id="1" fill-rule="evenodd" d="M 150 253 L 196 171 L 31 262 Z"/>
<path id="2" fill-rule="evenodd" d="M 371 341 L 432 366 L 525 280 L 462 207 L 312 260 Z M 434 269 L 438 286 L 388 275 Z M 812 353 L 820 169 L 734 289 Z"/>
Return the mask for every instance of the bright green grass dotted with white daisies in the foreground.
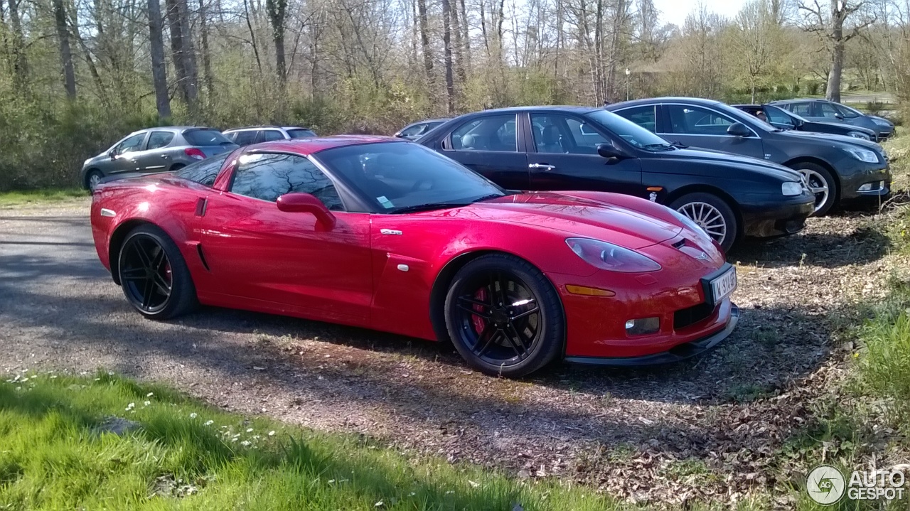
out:
<path id="1" fill-rule="evenodd" d="M 98 433 L 112 416 L 139 426 L 124 436 Z M 106 373 L 0 382 L 0 509 L 511 511 L 513 503 L 619 507 L 585 487 L 227 414 Z"/>

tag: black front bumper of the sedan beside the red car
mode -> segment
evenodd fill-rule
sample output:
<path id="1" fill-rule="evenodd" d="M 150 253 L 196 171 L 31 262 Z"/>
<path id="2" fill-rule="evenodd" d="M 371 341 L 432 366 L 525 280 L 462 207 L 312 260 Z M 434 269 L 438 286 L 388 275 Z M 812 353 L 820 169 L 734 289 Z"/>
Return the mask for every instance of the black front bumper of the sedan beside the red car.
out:
<path id="1" fill-rule="evenodd" d="M 777 197 L 774 197 L 777 199 Z M 814 211 L 814 197 L 800 195 L 792 200 L 773 202 L 743 201 L 743 235 L 752 237 L 777 237 L 792 235 L 803 230 L 805 219 Z"/>

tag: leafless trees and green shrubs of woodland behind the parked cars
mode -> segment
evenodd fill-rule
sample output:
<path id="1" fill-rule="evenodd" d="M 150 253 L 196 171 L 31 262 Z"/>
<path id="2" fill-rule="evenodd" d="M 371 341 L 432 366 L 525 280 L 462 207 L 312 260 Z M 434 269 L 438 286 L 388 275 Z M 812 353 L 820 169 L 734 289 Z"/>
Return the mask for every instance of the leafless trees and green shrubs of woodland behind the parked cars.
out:
<path id="1" fill-rule="evenodd" d="M 149 125 L 390 134 L 655 95 L 910 100 L 910 0 L 658 19 L 652 0 L 0 0 L 0 191 L 74 186 Z"/>

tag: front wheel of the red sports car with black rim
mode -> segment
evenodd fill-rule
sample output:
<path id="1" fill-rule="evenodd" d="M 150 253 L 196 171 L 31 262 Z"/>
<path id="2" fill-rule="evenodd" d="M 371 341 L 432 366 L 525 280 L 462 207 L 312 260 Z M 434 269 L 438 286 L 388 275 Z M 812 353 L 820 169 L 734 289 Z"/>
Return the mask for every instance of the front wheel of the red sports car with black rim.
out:
<path id="1" fill-rule="evenodd" d="M 455 349 L 490 376 L 529 375 L 559 356 L 565 339 L 556 290 L 512 255 L 481 255 L 462 267 L 449 286 L 445 316 Z"/>

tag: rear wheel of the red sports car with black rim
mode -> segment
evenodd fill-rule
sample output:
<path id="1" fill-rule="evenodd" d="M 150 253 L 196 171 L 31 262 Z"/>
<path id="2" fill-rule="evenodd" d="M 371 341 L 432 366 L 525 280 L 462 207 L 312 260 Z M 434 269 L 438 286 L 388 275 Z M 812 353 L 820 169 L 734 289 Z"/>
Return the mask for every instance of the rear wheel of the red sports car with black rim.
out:
<path id="1" fill-rule="evenodd" d="M 126 300 L 142 316 L 170 319 L 196 308 L 196 286 L 187 262 L 157 226 L 139 225 L 130 231 L 120 245 L 117 262 Z"/>

